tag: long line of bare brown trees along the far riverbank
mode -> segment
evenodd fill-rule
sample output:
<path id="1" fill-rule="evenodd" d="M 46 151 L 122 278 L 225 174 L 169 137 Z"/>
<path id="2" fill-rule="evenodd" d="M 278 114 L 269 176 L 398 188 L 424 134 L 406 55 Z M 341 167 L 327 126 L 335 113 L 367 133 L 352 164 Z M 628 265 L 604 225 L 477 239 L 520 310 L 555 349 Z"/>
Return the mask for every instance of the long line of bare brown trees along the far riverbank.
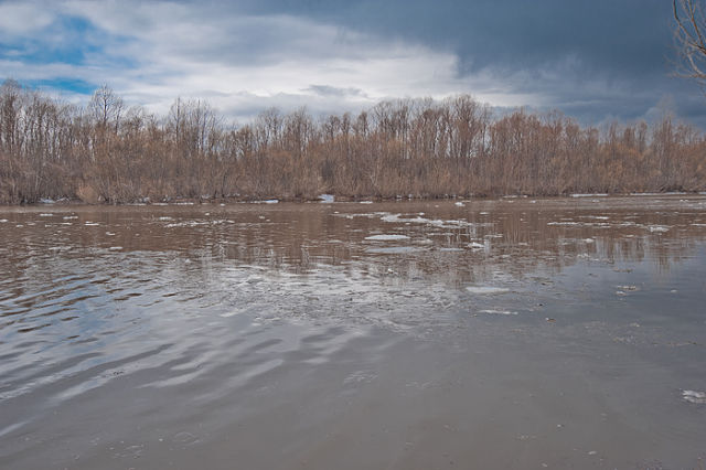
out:
<path id="1" fill-rule="evenodd" d="M 0 203 L 676 190 L 706 191 L 706 139 L 671 118 L 601 131 L 558 113 L 498 117 L 463 95 L 235 126 L 204 102 L 159 117 L 105 86 L 86 107 L 0 87 Z"/>

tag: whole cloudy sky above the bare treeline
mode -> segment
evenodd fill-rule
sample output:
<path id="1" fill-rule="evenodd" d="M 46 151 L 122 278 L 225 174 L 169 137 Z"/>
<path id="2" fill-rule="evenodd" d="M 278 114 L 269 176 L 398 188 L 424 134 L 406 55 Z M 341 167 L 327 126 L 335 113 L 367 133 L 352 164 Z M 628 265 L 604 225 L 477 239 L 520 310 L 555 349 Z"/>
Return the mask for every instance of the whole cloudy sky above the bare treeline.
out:
<path id="1" fill-rule="evenodd" d="M 470 94 L 499 113 L 706 128 L 674 57 L 668 0 L 0 0 L 0 81 L 77 103 L 105 84 L 158 114 L 205 99 L 238 121 Z"/>

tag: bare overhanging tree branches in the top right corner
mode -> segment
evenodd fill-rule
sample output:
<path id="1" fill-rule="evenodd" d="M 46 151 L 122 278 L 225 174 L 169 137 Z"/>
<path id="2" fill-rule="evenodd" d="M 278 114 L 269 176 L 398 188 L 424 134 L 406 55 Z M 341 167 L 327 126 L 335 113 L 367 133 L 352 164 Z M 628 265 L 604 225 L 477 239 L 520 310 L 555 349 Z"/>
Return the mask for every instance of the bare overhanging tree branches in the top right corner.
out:
<path id="1" fill-rule="evenodd" d="M 706 86 L 706 17 L 700 0 L 673 0 L 677 73 Z"/>

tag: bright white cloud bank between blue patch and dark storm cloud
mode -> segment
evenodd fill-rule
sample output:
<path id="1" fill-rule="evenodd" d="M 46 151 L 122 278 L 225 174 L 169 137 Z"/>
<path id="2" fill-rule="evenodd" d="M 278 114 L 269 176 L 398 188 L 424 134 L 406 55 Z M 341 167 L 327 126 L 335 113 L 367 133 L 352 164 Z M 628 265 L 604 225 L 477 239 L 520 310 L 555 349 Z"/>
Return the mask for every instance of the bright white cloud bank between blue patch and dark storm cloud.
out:
<path id="1" fill-rule="evenodd" d="M 450 51 L 302 18 L 136 0 L 71 0 L 52 8 L 56 15 L 81 17 L 105 31 L 101 51 L 87 55 L 82 65 L 6 60 L 0 68 L 8 76 L 107 83 L 128 103 L 160 114 L 178 96 L 210 98 L 216 108 L 240 118 L 268 106 L 357 110 L 388 97 L 441 98 L 458 93 L 471 93 L 495 106 L 543 104 L 539 95 L 515 92 L 524 81 L 522 72 L 485 70 L 460 76 L 458 57 Z M 23 11 L 28 9 L 38 6 Z M 52 14 L 46 18 L 35 29 Z M 125 58 L 133 65 L 125 66 Z M 331 96 L 317 86 L 356 92 Z"/>

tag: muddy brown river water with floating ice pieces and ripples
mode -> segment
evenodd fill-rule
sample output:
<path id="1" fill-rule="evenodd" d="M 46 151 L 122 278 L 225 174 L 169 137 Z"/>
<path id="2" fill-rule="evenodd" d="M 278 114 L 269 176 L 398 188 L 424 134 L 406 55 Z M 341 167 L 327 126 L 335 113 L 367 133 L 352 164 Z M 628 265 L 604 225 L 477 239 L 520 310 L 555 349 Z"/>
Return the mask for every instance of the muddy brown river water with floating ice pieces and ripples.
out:
<path id="1" fill-rule="evenodd" d="M 0 207 L 0 468 L 703 468 L 705 305 L 699 195 Z"/>

